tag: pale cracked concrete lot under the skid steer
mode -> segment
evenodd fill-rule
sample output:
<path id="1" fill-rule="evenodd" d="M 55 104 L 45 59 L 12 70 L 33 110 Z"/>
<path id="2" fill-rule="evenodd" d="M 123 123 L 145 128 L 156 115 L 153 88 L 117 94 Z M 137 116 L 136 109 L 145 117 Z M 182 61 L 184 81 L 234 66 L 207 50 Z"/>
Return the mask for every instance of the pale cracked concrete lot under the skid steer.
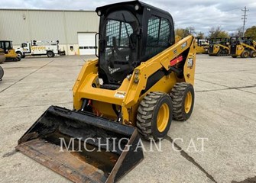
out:
<path id="1" fill-rule="evenodd" d="M 70 182 L 15 146 L 50 105 L 73 108 L 73 83 L 89 58 L 31 57 L 1 65 L 0 182 Z M 173 120 L 162 152 L 149 152 L 144 143 L 144 160 L 120 182 L 256 181 L 255 69 L 256 59 L 198 55 L 192 116 Z"/>

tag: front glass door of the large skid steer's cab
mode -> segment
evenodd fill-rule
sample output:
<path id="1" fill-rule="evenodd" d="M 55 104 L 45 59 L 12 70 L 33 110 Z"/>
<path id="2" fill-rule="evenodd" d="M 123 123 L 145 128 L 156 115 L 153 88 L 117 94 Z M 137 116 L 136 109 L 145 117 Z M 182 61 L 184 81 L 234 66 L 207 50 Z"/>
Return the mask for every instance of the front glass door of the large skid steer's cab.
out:
<path id="1" fill-rule="evenodd" d="M 102 30 L 105 47 L 100 53 L 100 67 L 104 82 L 121 83 L 133 71 L 137 61 L 138 21 L 128 11 L 115 11 L 108 15 Z"/>

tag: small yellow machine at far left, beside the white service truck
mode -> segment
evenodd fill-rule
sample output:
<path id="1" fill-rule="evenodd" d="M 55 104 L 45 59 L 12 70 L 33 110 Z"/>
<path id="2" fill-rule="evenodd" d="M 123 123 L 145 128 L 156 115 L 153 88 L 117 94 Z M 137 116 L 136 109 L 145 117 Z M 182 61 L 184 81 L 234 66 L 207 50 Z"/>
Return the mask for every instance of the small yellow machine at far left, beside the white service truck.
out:
<path id="1" fill-rule="evenodd" d="M 0 40 L 0 48 L 5 52 L 6 61 L 20 61 L 21 58 L 15 53 L 11 40 Z"/>

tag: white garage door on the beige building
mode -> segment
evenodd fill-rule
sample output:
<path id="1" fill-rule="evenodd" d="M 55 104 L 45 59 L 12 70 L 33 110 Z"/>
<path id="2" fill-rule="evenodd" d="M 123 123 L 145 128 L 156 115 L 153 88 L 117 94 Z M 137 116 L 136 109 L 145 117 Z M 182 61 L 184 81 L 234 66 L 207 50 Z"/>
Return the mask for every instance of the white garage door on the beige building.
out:
<path id="1" fill-rule="evenodd" d="M 95 34 L 96 33 L 78 33 L 80 55 L 95 54 Z"/>

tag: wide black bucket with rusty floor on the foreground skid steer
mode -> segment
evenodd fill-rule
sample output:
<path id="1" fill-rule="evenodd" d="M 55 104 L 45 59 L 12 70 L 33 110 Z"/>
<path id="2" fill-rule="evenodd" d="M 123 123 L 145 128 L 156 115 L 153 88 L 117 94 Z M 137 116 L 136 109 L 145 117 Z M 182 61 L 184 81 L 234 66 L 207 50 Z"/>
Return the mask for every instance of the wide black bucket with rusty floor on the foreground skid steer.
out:
<path id="1" fill-rule="evenodd" d="M 74 182 L 116 182 L 143 159 L 135 127 L 51 106 L 16 149 Z"/>

